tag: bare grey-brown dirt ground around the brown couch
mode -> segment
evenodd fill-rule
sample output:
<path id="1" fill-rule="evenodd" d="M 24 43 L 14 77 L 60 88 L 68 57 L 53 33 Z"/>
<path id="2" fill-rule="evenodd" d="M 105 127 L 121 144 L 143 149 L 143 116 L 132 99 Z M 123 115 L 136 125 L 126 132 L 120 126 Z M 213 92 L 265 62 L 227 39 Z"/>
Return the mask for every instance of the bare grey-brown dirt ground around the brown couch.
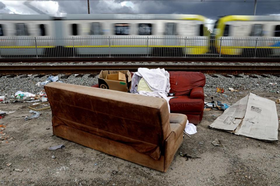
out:
<path id="1" fill-rule="evenodd" d="M 228 93 L 231 99 L 215 93 L 214 99 L 233 104 L 248 92 Z M 280 98 L 275 93 L 252 93 L 273 101 Z M 206 101 L 210 101 L 209 97 Z M 24 116 L 31 115 L 29 105 L 32 103 L 0 105 L 0 110 L 16 111 L 0 119 L 7 137 L 0 141 L 1 185 L 280 185 L 279 143 L 209 129 L 207 126 L 222 111 L 204 111 L 197 133 L 191 138 L 185 136 L 169 170 L 162 173 L 53 136 L 51 110 L 24 121 Z M 280 115 L 280 105 L 276 107 Z M 215 138 L 222 146 L 211 144 Z M 59 144 L 66 148 L 48 150 Z M 179 152 L 200 159 L 186 161 Z"/>

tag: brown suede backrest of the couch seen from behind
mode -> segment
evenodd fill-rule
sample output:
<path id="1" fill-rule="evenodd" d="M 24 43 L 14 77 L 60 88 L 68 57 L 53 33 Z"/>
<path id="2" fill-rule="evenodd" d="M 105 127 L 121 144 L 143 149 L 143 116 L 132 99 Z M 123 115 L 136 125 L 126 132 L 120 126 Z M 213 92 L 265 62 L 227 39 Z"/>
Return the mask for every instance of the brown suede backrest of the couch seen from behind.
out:
<path id="1" fill-rule="evenodd" d="M 153 144 L 136 145 L 140 151 L 161 147 L 170 133 L 168 106 L 162 98 L 58 82 L 44 88 L 54 126 L 71 126 L 132 146 Z"/>

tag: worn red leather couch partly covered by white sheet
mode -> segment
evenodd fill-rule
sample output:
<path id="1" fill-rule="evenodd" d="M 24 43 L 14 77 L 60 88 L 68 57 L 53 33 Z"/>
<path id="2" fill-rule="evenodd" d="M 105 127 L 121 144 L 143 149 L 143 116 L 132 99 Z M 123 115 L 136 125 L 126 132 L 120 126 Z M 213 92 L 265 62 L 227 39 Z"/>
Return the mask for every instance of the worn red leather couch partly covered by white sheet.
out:
<path id="1" fill-rule="evenodd" d="M 199 124 L 204 110 L 204 91 L 206 82 L 201 72 L 169 71 L 170 93 L 175 93 L 170 99 L 170 112 L 188 116 L 192 124 Z M 98 84 L 92 87 L 99 87 Z"/>

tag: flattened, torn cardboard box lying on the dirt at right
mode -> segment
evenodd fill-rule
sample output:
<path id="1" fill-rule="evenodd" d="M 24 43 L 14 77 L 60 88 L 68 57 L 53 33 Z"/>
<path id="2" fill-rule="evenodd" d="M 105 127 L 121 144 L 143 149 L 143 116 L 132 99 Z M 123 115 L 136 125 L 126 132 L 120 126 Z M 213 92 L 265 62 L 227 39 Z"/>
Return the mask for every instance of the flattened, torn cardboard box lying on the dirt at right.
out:
<path id="1" fill-rule="evenodd" d="M 263 141 L 278 141 L 275 102 L 249 93 L 208 127 Z"/>

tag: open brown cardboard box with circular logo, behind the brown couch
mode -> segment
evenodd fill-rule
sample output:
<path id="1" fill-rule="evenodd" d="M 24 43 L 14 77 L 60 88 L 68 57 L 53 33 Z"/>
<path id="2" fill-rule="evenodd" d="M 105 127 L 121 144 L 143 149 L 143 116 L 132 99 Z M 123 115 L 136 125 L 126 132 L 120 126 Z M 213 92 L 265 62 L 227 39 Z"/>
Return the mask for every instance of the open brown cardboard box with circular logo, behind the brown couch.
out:
<path id="1" fill-rule="evenodd" d="M 98 84 L 99 88 L 128 92 L 131 88 L 131 74 L 129 70 L 101 70 Z"/>

